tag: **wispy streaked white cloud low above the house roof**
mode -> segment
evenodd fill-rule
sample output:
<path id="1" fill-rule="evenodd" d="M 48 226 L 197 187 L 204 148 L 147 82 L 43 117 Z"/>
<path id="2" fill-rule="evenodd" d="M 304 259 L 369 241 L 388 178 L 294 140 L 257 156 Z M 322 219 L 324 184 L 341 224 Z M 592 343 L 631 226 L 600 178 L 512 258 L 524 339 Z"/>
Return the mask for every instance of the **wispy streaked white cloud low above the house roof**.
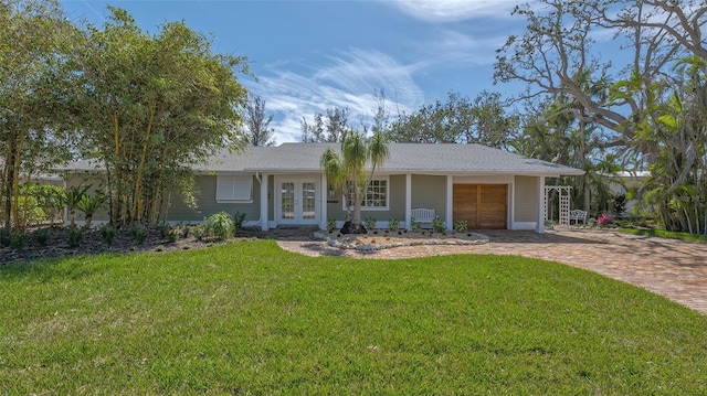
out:
<path id="1" fill-rule="evenodd" d="M 287 66 L 273 64 L 261 72 L 258 83 L 246 83 L 266 101 L 266 111 L 275 115 L 271 126 L 278 143 L 298 141 L 303 117 L 310 120 L 314 114 L 334 107 L 348 108 L 351 127 L 369 125 L 378 89 L 386 92 L 392 113 L 411 111 L 424 101 L 412 78 L 413 68 L 378 51 L 337 52 L 323 66 L 300 65 L 304 72 L 294 72 L 292 63 Z"/>

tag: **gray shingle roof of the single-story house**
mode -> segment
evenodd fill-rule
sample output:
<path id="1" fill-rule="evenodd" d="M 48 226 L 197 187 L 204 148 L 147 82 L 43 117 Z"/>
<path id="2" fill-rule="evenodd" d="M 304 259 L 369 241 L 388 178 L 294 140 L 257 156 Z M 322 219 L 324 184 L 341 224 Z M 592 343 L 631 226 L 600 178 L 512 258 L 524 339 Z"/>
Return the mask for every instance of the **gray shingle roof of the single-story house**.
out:
<path id="1" fill-rule="evenodd" d="M 338 143 L 283 143 L 277 147 L 249 147 L 239 153 L 226 150 L 207 163 L 201 171 L 319 172 L 319 159 L 327 147 Z M 547 161 L 479 145 L 391 143 L 390 158 L 381 172 L 389 173 L 471 173 L 576 175 L 584 172 Z"/>

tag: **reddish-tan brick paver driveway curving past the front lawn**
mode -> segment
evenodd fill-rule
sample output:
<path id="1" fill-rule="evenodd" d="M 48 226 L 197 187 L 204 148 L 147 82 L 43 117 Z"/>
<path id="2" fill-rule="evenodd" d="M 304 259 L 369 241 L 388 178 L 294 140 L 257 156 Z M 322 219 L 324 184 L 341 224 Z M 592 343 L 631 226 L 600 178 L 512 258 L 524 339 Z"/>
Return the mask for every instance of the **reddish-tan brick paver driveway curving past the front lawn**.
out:
<path id="1" fill-rule="evenodd" d="M 287 250 L 309 255 L 409 258 L 449 254 L 519 255 L 585 268 L 663 295 L 707 314 L 707 244 L 612 231 L 561 229 L 546 234 L 482 231 L 490 242 L 475 246 L 423 245 L 373 253 L 341 250 L 323 242 L 278 240 Z"/>

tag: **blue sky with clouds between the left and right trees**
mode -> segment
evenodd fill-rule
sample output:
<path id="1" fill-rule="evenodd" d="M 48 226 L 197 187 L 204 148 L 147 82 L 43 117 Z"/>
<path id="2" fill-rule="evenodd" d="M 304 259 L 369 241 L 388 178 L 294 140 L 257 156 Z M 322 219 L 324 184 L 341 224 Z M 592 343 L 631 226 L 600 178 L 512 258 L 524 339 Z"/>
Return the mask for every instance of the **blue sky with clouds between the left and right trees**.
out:
<path id="1" fill-rule="evenodd" d="M 348 108 L 354 128 L 370 124 L 382 88 L 393 115 L 444 100 L 473 98 L 493 85 L 495 50 L 525 22 L 511 18 L 516 0 L 356 1 L 94 1 L 63 0 L 72 21 L 102 25 L 106 4 L 124 8 L 157 32 L 183 20 L 213 36 L 213 49 L 245 55 L 257 81 L 241 82 L 275 116 L 277 143 L 298 141 L 300 120 L 327 108 Z"/>

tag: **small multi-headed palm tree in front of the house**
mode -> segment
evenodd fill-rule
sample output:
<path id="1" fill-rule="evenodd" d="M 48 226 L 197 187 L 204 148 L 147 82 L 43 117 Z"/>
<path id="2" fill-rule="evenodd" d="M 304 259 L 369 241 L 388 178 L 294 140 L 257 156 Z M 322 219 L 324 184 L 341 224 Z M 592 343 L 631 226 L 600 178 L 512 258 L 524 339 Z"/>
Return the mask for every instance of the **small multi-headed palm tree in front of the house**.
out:
<path id="1" fill-rule="evenodd" d="M 370 138 L 355 130 L 348 130 L 341 136 L 341 156 L 331 148 L 321 154 L 319 164 L 334 189 L 341 189 L 346 202 L 354 204 L 354 214 L 349 225 L 349 233 L 363 233 L 361 226 L 361 201 L 366 196 L 376 168 L 390 157 L 388 136 L 376 132 Z M 370 161 L 370 173 L 366 167 Z M 350 210 L 350 208 L 349 208 Z M 345 226 L 346 228 L 346 226 Z"/>

